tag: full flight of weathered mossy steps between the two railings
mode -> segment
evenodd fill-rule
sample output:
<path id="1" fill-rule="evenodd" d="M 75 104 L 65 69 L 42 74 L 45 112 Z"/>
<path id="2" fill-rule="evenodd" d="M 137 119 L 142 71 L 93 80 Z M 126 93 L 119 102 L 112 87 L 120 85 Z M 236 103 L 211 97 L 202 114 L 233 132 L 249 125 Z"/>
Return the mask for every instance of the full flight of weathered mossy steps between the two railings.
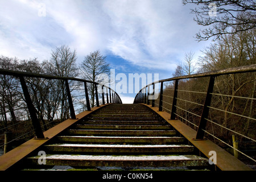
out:
<path id="1" fill-rule="evenodd" d="M 114 110 L 117 113 L 118 111 L 121 111 L 121 113 L 124 111 L 125 115 L 126 111 L 137 110 L 138 117 L 133 121 L 127 122 L 127 126 L 125 127 L 123 127 L 121 123 L 122 121 L 119 122 L 117 120 L 119 115 L 122 114 L 118 114 L 117 118 L 113 118 L 114 121 L 117 121 L 117 127 L 123 127 L 122 130 L 116 128 L 113 129 L 113 125 L 109 125 L 110 121 L 104 120 L 104 123 L 101 125 L 97 120 L 94 120 L 94 114 L 114 115 L 111 113 L 111 110 Z M 148 109 L 148 107 L 144 105 L 114 104 L 109 105 L 108 107 L 103 107 L 102 109 L 97 110 L 95 113 L 84 117 L 81 122 L 77 122 L 75 125 L 68 127 L 67 130 L 61 132 L 60 135 L 57 135 L 54 139 L 44 144 L 42 146 L 43 148 L 40 148 L 39 150 L 46 151 L 46 164 L 49 166 L 68 165 L 77 167 L 127 167 L 127 165 L 131 165 L 133 167 L 139 167 L 143 165 L 145 167 L 168 166 L 173 168 L 182 166 L 187 168 L 188 166 L 191 166 L 193 168 L 208 168 L 208 160 L 202 156 L 194 155 L 194 147 L 187 143 L 187 141 L 184 140 L 184 137 L 177 137 L 176 130 L 173 130 L 173 127 L 170 127 L 168 122 L 164 121 L 163 118 L 158 116 L 155 117 L 155 120 L 160 122 L 160 125 L 162 126 L 166 126 L 168 124 L 169 129 L 156 130 L 159 125 L 143 125 L 144 128 L 142 128 L 139 125 L 141 123 L 140 115 L 145 114 L 145 112 L 150 114 L 152 113 L 152 110 Z M 154 113 L 152 115 L 158 114 Z M 96 123 L 93 125 L 97 126 L 97 129 L 77 130 L 77 127 L 81 127 L 82 125 L 84 125 L 84 127 L 92 127 L 92 125 L 87 125 L 86 122 L 93 120 L 96 121 Z M 136 124 L 137 126 L 135 126 L 136 130 L 129 129 L 129 127 L 134 127 L 131 125 L 131 122 L 138 122 Z M 105 126 L 112 127 L 112 130 L 106 129 Z M 146 127 L 152 128 L 151 130 L 148 130 Z M 72 133 L 75 133 L 75 135 L 72 135 L 71 131 Z M 89 136 L 91 134 L 93 136 Z M 60 143 L 60 138 L 67 142 Z M 125 142 L 130 143 L 128 144 Z M 145 144 L 145 142 L 147 144 Z M 162 144 L 159 144 L 158 142 L 162 142 Z M 27 156 L 24 162 L 26 162 L 26 164 L 29 166 L 27 165 L 24 169 L 43 167 L 38 166 L 40 164 L 38 163 L 40 155 L 35 156 L 36 152 L 39 150 L 36 150 L 33 152 L 33 154 Z M 94 153 L 96 153 L 96 155 L 92 156 Z M 128 153 L 130 155 L 128 155 Z M 113 154 L 115 155 L 114 157 Z M 34 164 L 30 165 L 31 162 Z"/>

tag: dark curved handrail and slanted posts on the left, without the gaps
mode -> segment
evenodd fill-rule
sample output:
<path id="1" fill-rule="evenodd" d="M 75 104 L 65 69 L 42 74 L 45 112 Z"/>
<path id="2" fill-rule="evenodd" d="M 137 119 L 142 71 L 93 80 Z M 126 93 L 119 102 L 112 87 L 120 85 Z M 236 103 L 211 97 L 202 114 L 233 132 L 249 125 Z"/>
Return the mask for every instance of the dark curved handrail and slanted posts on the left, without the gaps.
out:
<path id="1" fill-rule="evenodd" d="M 49 80 L 63 80 L 63 81 L 65 81 L 65 87 L 66 87 L 66 91 L 67 91 L 67 97 L 68 97 L 68 104 L 69 104 L 71 119 L 76 119 L 76 115 L 75 115 L 75 110 L 74 110 L 74 106 L 73 106 L 71 90 L 69 89 L 68 80 L 84 82 L 86 106 L 87 106 L 87 110 L 89 110 L 89 111 L 91 109 L 90 109 L 90 104 L 89 104 L 89 95 L 88 95 L 88 89 L 87 89 L 86 83 L 95 84 L 96 105 L 100 106 L 99 105 L 99 100 L 98 100 L 98 90 L 97 90 L 97 85 L 100 85 L 100 83 L 97 83 L 97 82 L 84 80 L 84 79 L 81 79 L 81 78 L 75 78 L 75 77 L 53 76 L 53 75 L 45 75 L 45 74 L 40 74 L 40 73 L 13 71 L 13 70 L 7 70 L 7 69 L 2 69 L 2 68 L 0 68 L 0 75 L 9 75 L 9 76 L 14 76 L 14 77 L 19 78 L 20 85 L 22 86 L 22 90 L 23 90 L 24 99 L 26 101 L 27 109 L 30 113 L 30 118 L 31 118 L 32 125 L 34 127 L 35 134 L 36 134 L 37 138 L 44 138 L 44 135 L 43 135 L 42 127 L 40 126 L 40 122 L 38 120 L 38 116 L 36 115 L 36 112 L 35 112 L 35 107 L 32 103 L 31 97 L 30 97 L 30 92 L 28 92 L 27 84 L 26 84 L 26 81 L 25 81 L 24 77 L 45 78 L 45 79 L 49 79 Z M 101 85 L 101 86 L 102 86 L 102 104 L 105 104 L 105 98 L 104 98 L 104 86 L 105 85 Z M 113 101 L 111 101 L 111 96 L 110 96 L 110 103 L 122 103 L 122 100 L 119 97 L 119 95 L 117 94 L 117 92 L 115 92 L 113 89 L 109 88 L 108 86 L 105 86 L 105 88 L 106 88 L 106 92 L 107 92 L 106 93 L 107 104 L 109 104 L 108 89 L 109 89 L 109 94 L 112 92 L 112 98 L 113 98 Z"/>

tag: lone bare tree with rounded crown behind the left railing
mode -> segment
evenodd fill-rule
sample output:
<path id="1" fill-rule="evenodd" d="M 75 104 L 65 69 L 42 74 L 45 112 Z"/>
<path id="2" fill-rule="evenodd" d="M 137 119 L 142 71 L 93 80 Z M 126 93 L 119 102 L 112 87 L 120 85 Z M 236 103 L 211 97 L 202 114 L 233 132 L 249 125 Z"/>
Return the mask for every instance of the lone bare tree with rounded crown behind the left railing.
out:
<path id="1" fill-rule="evenodd" d="M 80 67 L 82 77 L 89 81 L 98 82 L 99 78 L 97 76 L 101 73 L 109 73 L 109 64 L 106 63 L 105 59 L 106 56 L 102 56 L 99 50 L 85 56 Z M 92 106 L 94 106 L 95 90 L 95 85 L 90 84 L 88 91 L 91 96 Z"/>

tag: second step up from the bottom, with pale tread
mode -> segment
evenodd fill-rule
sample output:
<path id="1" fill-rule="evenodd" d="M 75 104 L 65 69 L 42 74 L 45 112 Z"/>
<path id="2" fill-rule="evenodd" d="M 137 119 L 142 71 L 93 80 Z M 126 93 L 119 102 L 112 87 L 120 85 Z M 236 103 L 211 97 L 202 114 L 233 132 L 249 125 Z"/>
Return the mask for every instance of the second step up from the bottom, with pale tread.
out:
<path id="1" fill-rule="evenodd" d="M 84 153 L 84 152 L 92 152 L 94 153 L 187 153 L 193 152 L 193 146 L 188 145 L 174 145 L 174 144 L 48 144 L 44 146 L 44 149 L 47 153 L 51 152 L 76 152 L 76 153 Z"/>

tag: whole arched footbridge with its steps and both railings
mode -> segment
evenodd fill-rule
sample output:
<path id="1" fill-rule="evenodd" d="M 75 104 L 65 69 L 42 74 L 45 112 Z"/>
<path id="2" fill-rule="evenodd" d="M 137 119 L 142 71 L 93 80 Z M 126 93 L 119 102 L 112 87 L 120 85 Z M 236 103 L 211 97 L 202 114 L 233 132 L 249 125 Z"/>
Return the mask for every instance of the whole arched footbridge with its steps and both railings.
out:
<path id="1" fill-rule="evenodd" d="M 0 170 L 255 170 L 255 71 L 159 80 L 122 104 L 97 82 L 0 69 Z"/>

